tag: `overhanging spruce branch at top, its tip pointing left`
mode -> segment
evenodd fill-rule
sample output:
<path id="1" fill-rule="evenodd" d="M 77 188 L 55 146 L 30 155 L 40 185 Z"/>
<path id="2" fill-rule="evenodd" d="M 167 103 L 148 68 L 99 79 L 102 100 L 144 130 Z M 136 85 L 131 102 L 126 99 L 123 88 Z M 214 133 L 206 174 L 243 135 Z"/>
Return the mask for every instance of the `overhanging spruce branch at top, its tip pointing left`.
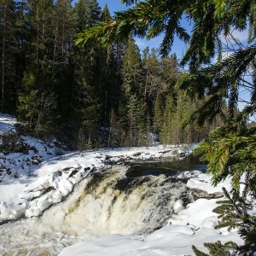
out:
<path id="1" fill-rule="evenodd" d="M 136 2 L 132 9 L 117 12 L 113 21 L 101 22 L 90 30 L 81 32 L 77 44 L 92 44 L 98 38 L 103 44 L 109 44 L 116 36 L 126 38 L 130 33 L 149 39 L 163 32 L 165 37 L 160 45 L 160 52 L 167 55 L 175 35 L 185 42 L 189 40 L 189 34 L 179 22 L 183 15 L 184 1 L 177 1 L 177 4 L 172 4 L 171 1 L 161 1 L 159 4 L 154 0 Z"/>

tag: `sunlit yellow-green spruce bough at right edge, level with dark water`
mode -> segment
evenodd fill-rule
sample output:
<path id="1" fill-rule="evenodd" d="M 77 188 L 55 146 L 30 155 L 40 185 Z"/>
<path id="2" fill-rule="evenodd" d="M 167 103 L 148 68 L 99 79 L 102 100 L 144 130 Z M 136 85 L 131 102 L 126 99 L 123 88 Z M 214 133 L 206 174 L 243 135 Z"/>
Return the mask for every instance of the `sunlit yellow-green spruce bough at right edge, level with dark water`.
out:
<path id="1" fill-rule="evenodd" d="M 255 147 L 254 129 L 247 131 L 247 136 L 240 136 L 230 131 L 230 125 L 218 128 L 210 133 L 207 140 L 195 149 L 195 154 L 204 154 L 207 160 L 207 172 L 212 174 L 212 183 L 216 185 L 224 178 L 232 177 L 232 186 L 240 190 L 243 173 L 250 175 L 249 188 L 255 193 Z"/>

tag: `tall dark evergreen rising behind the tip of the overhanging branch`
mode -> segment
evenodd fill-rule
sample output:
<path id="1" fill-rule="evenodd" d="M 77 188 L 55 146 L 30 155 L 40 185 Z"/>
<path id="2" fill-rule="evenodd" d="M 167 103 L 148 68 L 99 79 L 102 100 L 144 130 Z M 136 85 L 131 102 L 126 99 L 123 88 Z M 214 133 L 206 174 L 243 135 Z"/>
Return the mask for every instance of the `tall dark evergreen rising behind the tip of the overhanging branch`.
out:
<path id="1" fill-rule="evenodd" d="M 80 0 L 75 4 L 74 15 L 77 18 L 77 32 L 95 25 L 101 19 L 101 8 L 96 1 Z M 76 115 L 76 133 L 84 133 L 84 145 L 96 147 L 99 143 L 102 121 L 101 102 L 101 45 L 95 44 L 84 49 L 75 48 L 74 63 L 74 99 Z M 100 88 L 100 90 L 99 90 Z M 87 146 L 82 149 L 88 148 Z"/>

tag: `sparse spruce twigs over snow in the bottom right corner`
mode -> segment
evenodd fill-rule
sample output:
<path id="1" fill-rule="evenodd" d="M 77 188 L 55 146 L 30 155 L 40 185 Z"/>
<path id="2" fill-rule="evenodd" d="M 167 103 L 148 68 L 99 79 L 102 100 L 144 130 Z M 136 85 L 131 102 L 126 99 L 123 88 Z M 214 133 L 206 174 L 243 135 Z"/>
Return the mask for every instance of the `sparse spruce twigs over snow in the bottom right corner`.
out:
<path id="1" fill-rule="evenodd" d="M 218 218 L 220 219 L 216 228 L 228 227 L 229 230 L 237 228 L 239 234 L 244 240 L 244 244 L 238 246 L 232 241 L 226 242 L 224 245 L 221 244 L 220 241 L 215 243 L 204 243 L 205 247 L 209 249 L 210 254 L 202 253 L 193 246 L 192 248 L 196 256 L 254 255 L 256 251 L 256 217 L 250 214 L 253 210 L 254 198 L 248 196 L 250 195 L 248 181 L 249 172 L 247 172 L 244 189 L 241 193 L 233 191 L 232 195 L 230 195 L 226 189 L 223 189 L 227 200 L 218 201 L 220 206 L 215 209 L 215 212 L 219 213 Z"/>

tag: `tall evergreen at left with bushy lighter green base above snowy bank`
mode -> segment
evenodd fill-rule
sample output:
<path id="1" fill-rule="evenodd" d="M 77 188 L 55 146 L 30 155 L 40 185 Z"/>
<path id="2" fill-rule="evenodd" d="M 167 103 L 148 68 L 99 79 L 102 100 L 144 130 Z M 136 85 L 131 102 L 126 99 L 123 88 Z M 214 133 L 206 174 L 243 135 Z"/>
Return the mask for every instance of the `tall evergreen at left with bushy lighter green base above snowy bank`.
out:
<path id="1" fill-rule="evenodd" d="M 49 137 L 56 132 L 59 118 L 54 74 L 54 3 L 28 0 L 27 7 L 28 47 L 20 81 L 18 119 L 24 122 L 26 132 L 36 137 Z"/>

